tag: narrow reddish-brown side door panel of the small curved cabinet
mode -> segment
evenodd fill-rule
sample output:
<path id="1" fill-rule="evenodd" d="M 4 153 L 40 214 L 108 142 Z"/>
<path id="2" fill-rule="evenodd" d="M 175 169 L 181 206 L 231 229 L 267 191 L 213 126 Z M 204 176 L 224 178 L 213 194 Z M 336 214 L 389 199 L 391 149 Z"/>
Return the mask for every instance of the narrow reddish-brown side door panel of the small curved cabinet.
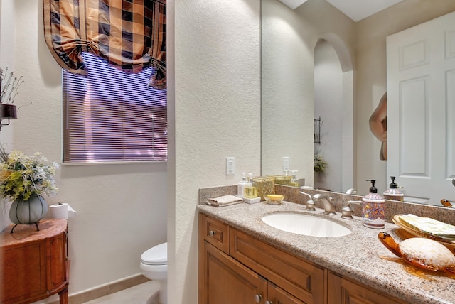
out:
<path id="1" fill-rule="evenodd" d="M 48 291 L 52 292 L 66 281 L 66 234 L 48 239 Z"/>

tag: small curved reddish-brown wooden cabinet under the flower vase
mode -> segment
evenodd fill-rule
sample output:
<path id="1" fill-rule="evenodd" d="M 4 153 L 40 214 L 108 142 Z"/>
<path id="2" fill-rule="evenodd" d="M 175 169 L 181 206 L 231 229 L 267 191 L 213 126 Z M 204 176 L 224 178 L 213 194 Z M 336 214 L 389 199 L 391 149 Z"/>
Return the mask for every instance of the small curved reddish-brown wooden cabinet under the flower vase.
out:
<path id="1" fill-rule="evenodd" d="M 0 303 L 33 303 L 58 293 L 68 304 L 68 220 L 43 219 L 0 234 Z"/>

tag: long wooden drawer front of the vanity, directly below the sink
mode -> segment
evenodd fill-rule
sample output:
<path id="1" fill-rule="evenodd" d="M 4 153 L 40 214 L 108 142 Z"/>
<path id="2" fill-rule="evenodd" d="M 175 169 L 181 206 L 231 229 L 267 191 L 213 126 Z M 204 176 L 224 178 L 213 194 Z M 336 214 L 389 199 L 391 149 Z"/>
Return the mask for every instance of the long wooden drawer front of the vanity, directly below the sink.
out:
<path id="1" fill-rule="evenodd" d="M 235 228 L 230 229 L 230 255 L 299 300 L 324 302 L 323 268 Z"/>

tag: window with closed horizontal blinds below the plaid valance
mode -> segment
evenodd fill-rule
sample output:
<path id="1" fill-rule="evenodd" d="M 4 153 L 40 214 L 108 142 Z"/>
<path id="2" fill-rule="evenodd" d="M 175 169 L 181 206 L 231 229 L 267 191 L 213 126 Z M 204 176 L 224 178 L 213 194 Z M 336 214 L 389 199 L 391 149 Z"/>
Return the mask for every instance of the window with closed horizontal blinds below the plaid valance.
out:
<path id="1" fill-rule="evenodd" d="M 166 89 L 151 68 L 126 74 L 84 53 L 87 77 L 63 70 L 63 162 L 166 161 Z"/>

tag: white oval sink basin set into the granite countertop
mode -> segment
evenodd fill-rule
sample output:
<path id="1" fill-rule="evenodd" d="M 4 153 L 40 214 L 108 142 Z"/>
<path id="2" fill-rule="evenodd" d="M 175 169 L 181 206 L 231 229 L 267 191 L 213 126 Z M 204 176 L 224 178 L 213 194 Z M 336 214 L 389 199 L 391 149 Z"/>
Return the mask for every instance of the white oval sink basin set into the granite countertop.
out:
<path id="1" fill-rule="evenodd" d="M 262 217 L 262 222 L 285 232 L 310 237 L 343 237 L 352 232 L 348 227 L 338 224 L 331 219 L 300 213 L 274 213 L 272 215 L 265 215 Z"/>

